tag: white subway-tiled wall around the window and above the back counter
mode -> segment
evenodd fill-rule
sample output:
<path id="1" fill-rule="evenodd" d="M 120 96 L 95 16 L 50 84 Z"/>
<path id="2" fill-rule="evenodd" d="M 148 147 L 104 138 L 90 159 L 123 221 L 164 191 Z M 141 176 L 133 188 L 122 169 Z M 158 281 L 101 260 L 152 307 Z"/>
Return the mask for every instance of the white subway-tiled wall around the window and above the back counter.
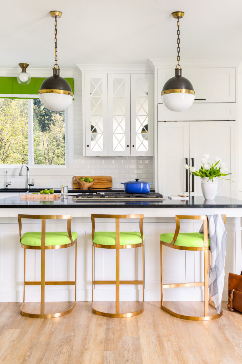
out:
<path id="1" fill-rule="evenodd" d="M 16 76 L 18 68 L 1 68 L 0 76 Z M 28 68 L 32 77 L 52 75 L 52 69 Z M 109 175 L 113 178 L 113 187 L 123 188 L 120 182 L 140 178 L 154 182 L 153 157 L 83 157 L 82 153 L 82 75 L 77 69 L 63 69 L 62 77 L 74 77 L 75 100 L 73 102 L 73 120 L 69 118 L 69 164 L 65 166 L 30 166 L 30 178 L 34 178 L 34 187 L 55 188 L 60 184 L 72 187 L 74 175 Z M 73 143 L 74 142 L 74 143 Z M 71 151 L 72 149 L 72 151 Z M 5 187 L 5 173 L 8 169 L 9 187 L 25 187 L 26 177 L 19 176 L 19 166 L 0 166 L 0 188 Z M 26 173 L 24 169 L 23 174 Z"/>

